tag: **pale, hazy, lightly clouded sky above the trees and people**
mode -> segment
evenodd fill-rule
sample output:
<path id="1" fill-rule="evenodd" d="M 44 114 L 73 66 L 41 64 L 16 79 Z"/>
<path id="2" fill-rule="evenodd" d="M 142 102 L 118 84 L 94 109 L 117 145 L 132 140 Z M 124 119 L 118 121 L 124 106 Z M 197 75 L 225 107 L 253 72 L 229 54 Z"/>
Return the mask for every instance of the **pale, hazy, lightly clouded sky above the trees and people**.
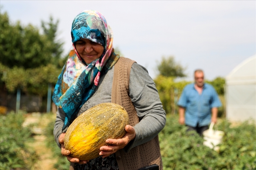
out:
<path id="1" fill-rule="evenodd" d="M 256 54 L 255 0 L 1 0 L 0 5 L 12 23 L 20 20 L 40 27 L 50 15 L 58 19 L 57 38 L 64 42 L 65 55 L 72 47 L 74 17 L 83 10 L 97 10 L 113 30 L 114 47 L 146 67 L 152 78 L 163 56 L 174 56 L 186 68 L 186 80 L 193 80 L 198 68 L 213 80 Z"/>

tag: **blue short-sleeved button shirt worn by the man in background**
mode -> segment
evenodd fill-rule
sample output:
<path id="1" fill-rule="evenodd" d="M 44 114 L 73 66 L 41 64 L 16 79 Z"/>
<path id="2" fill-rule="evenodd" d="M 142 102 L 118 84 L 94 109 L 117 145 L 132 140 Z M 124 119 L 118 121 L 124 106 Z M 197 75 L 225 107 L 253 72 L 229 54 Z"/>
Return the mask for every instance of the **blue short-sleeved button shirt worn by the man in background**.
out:
<path id="1" fill-rule="evenodd" d="M 182 91 L 178 106 L 186 108 L 185 124 L 196 127 L 206 126 L 211 122 L 212 107 L 222 106 L 218 94 L 210 84 L 204 84 L 202 94 L 199 94 L 194 83 L 188 84 Z"/>

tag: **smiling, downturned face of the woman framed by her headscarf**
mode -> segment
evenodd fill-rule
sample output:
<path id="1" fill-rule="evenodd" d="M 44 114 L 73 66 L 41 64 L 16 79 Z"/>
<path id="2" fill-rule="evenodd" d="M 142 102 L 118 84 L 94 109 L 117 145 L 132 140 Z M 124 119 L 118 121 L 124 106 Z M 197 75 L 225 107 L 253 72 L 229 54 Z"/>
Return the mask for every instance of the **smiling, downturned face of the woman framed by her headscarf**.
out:
<path id="1" fill-rule="evenodd" d="M 75 47 L 80 57 L 82 57 L 87 64 L 100 58 L 104 51 L 104 47 L 102 45 L 84 38 L 76 41 Z"/>

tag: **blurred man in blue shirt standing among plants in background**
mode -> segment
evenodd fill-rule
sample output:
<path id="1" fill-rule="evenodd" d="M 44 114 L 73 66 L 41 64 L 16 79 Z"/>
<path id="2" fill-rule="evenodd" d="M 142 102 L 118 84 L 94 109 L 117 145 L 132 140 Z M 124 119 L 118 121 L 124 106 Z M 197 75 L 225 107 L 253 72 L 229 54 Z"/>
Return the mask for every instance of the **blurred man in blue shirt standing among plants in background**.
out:
<path id="1" fill-rule="evenodd" d="M 195 130 L 202 135 L 211 122 L 216 123 L 221 102 L 214 88 L 204 83 L 202 70 L 195 70 L 194 78 L 195 82 L 185 86 L 178 101 L 179 122 L 188 131 Z"/>

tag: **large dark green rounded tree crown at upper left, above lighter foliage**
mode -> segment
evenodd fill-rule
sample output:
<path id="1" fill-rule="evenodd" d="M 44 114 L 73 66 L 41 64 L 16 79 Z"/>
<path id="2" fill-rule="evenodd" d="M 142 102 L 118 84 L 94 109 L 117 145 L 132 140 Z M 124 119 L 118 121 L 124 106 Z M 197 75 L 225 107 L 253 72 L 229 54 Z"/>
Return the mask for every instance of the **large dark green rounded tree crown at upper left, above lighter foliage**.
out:
<path id="1" fill-rule="evenodd" d="M 38 28 L 20 22 L 11 24 L 7 13 L 0 14 L 0 62 L 9 68 L 36 68 L 52 62 L 51 42 Z"/>

